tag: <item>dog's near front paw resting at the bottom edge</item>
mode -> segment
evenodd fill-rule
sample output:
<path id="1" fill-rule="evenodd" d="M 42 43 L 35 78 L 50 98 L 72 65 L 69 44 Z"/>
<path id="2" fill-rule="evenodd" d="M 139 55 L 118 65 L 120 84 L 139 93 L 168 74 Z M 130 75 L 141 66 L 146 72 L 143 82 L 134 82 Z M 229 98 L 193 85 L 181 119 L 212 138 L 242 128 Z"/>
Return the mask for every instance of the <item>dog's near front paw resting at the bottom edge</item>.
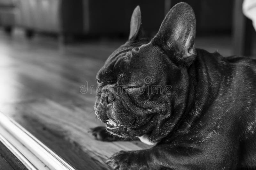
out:
<path id="1" fill-rule="evenodd" d="M 120 151 L 108 158 L 106 163 L 114 170 L 149 169 L 140 159 L 136 151 Z"/>

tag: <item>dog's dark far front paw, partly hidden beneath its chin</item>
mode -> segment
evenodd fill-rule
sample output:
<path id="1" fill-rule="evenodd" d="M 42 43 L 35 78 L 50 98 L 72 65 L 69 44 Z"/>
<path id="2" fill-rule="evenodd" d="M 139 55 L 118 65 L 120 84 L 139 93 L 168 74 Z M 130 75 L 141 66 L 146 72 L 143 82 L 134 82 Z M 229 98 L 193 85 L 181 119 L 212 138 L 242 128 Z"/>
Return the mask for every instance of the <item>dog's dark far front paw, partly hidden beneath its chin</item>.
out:
<path id="1" fill-rule="evenodd" d="M 104 126 L 98 126 L 95 128 L 91 128 L 89 132 L 92 133 L 92 136 L 97 140 L 101 141 L 116 141 L 117 137 L 109 134 Z"/>

